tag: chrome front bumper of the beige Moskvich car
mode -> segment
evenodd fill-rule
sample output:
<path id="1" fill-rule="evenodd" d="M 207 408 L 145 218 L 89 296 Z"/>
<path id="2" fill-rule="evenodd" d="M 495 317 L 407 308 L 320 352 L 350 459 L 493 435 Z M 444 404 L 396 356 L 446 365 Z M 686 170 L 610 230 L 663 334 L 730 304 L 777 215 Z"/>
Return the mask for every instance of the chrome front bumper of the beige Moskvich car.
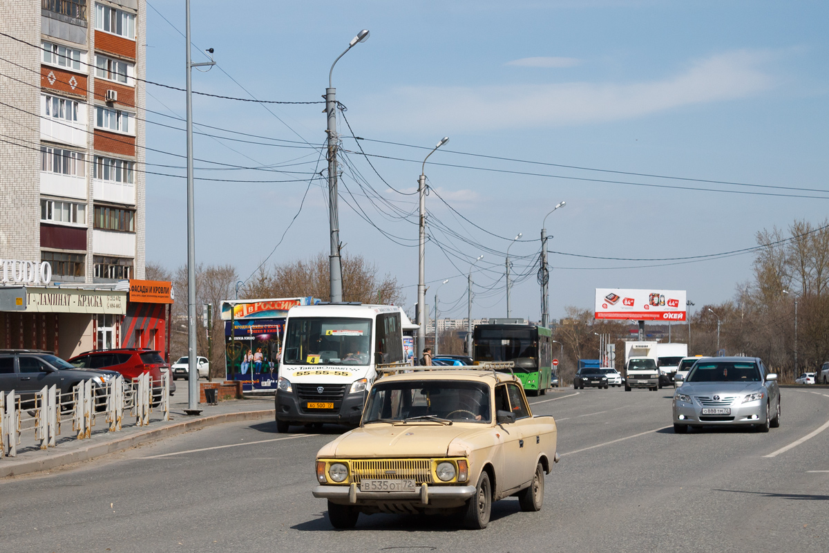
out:
<path id="1" fill-rule="evenodd" d="M 474 486 L 429 486 L 423 484 L 414 492 L 362 492 L 356 484 L 350 486 L 317 486 L 313 497 L 322 497 L 340 505 L 377 505 L 393 500 L 409 503 L 411 507 L 460 507 L 475 495 Z"/>

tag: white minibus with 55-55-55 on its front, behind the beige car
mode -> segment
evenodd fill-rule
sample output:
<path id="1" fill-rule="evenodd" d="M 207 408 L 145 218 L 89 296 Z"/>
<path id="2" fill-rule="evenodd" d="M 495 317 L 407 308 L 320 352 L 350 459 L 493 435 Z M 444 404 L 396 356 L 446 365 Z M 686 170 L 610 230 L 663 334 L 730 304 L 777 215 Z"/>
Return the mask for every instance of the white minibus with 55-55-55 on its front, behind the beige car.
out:
<path id="1" fill-rule="evenodd" d="M 321 303 L 293 307 L 285 320 L 276 428 L 359 424 L 376 366 L 404 360 L 405 313 L 394 305 Z"/>

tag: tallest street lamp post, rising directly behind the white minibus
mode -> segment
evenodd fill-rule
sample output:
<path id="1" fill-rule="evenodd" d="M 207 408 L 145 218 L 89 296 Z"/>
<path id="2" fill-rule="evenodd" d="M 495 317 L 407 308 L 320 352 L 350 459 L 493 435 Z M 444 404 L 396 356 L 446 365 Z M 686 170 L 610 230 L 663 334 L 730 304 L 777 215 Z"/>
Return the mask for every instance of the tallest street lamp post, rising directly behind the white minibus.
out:
<path id="1" fill-rule="evenodd" d="M 357 43 L 365 42 L 369 32 L 363 29 L 342 52 L 328 71 L 328 88 L 325 90 L 325 112 L 328 118 L 328 226 L 331 232 L 331 253 L 328 256 L 328 283 L 332 302 L 342 302 L 342 264 L 340 263 L 340 222 L 337 214 L 337 89 L 332 85 L 334 65 Z"/>

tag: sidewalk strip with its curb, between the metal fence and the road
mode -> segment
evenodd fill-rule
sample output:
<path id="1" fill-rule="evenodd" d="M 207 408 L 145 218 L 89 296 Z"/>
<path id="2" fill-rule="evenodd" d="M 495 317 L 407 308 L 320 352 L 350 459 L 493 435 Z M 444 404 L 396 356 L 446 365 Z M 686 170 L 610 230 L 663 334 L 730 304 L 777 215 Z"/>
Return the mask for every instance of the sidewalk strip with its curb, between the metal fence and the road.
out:
<path id="1" fill-rule="evenodd" d="M 76 439 L 71 421 L 65 421 L 57 445 L 46 450 L 39 449 L 32 429 L 21 434 L 17 445 L 17 457 L 0 458 L 0 478 L 36 473 L 70 463 L 78 463 L 101 455 L 123 451 L 146 442 L 169 438 L 193 429 L 237 420 L 273 420 L 274 397 L 246 397 L 243 400 L 220 401 L 218 405 L 200 404 L 201 415 L 185 415 L 187 390 L 181 390 L 170 398 L 170 420 L 160 420 L 158 410 L 150 415 L 150 424 L 136 426 L 135 417 L 124 414 L 122 429 L 109 432 L 109 424 L 99 416 L 88 439 Z M 26 417 L 28 419 L 28 417 Z M 31 421 L 31 420 L 30 420 Z M 31 427 L 31 422 L 27 424 Z"/>

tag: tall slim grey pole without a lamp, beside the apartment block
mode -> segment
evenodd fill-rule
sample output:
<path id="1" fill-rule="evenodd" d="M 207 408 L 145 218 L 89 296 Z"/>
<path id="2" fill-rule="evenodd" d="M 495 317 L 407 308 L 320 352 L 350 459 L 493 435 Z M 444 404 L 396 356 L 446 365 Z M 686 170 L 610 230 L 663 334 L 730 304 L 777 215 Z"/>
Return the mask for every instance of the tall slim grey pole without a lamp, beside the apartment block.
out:
<path id="1" fill-rule="evenodd" d="M 200 415 L 198 391 L 198 347 L 196 342 L 196 223 L 195 201 L 193 200 L 193 94 L 191 72 L 193 67 L 216 65 L 215 61 L 192 63 L 190 57 L 190 0 L 185 0 L 187 51 L 187 415 Z M 213 53 L 213 49 L 208 52 Z"/>

